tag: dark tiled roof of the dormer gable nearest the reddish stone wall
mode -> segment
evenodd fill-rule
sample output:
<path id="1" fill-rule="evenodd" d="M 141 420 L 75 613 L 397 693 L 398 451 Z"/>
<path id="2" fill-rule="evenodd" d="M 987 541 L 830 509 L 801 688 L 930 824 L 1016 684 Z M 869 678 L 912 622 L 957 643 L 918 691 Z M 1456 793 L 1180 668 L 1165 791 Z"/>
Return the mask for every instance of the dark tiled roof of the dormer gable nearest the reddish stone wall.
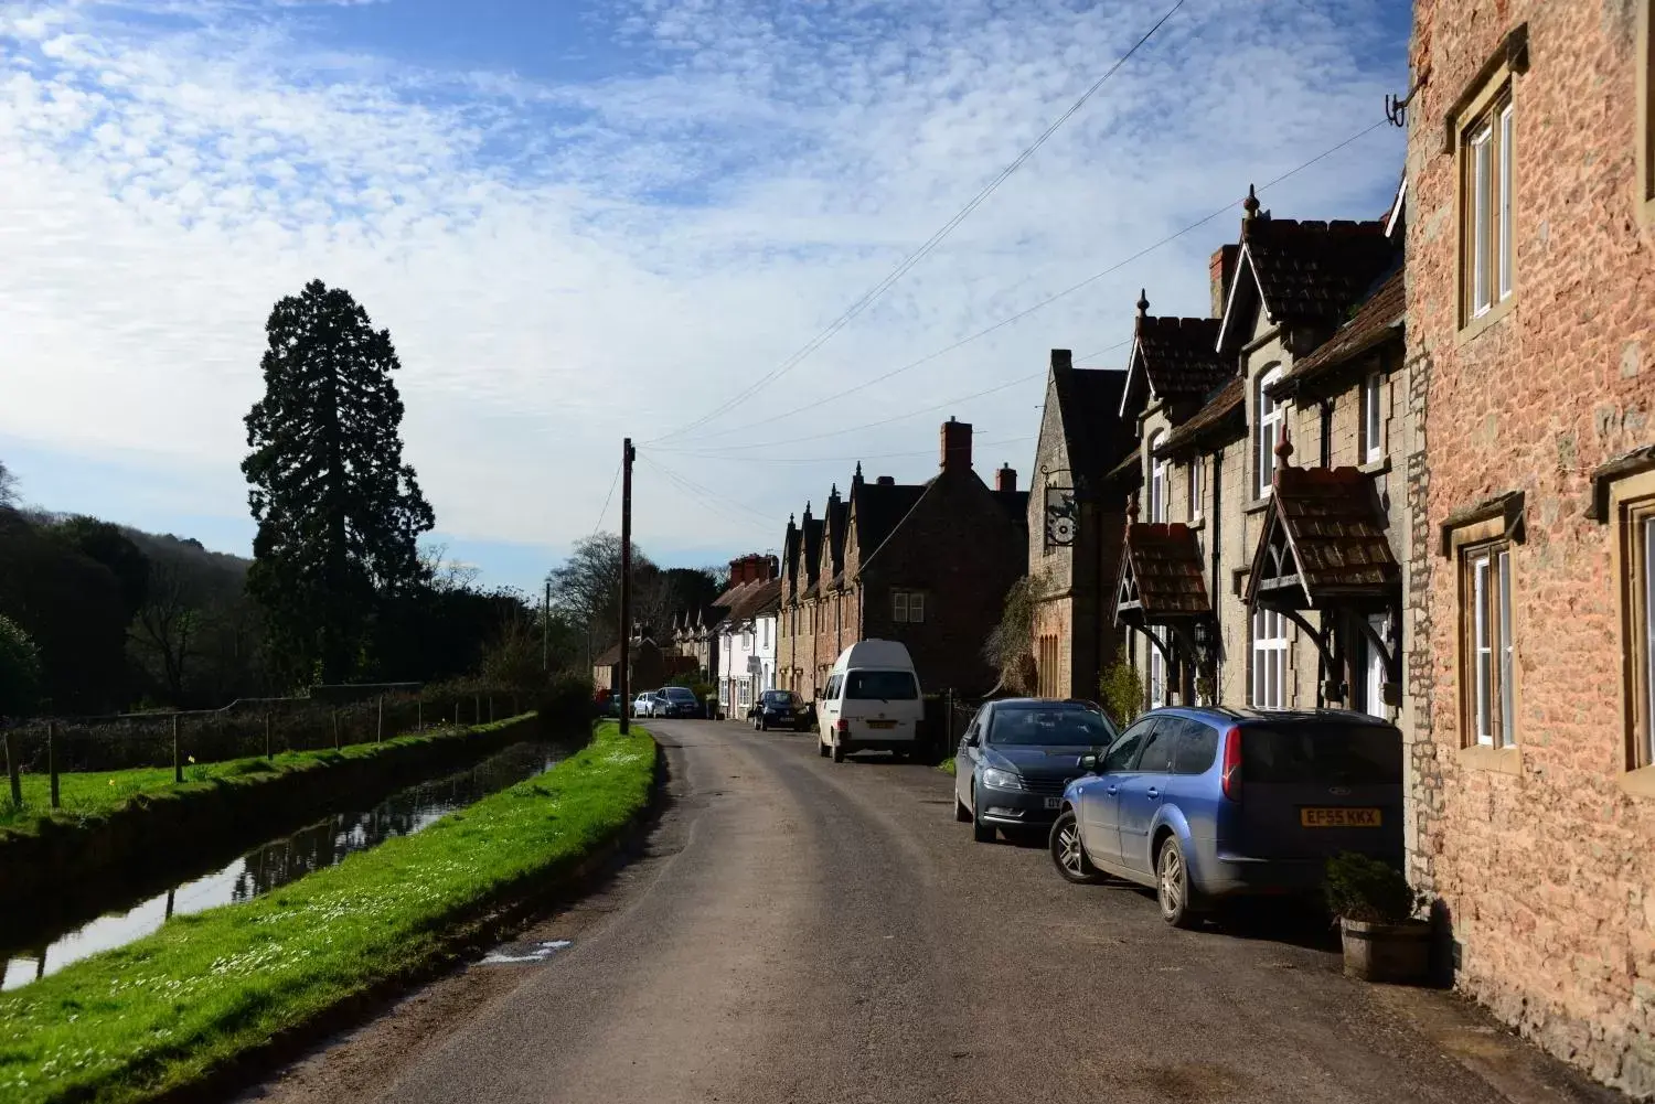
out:
<path id="1" fill-rule="evenodd" d="M 1253 218 L 1243 240 L 1264 305 L 1278 319 L 1342 319 L 1397 253 L 1384 220 Z"/>

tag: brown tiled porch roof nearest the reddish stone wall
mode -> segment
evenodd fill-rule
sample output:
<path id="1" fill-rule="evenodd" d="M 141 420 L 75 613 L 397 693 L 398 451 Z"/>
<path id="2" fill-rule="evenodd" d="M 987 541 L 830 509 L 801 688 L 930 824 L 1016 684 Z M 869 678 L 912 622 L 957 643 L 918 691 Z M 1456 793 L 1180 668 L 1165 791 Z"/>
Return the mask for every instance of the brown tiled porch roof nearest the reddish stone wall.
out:
<path id="1" fill-rule="evenodd" d="M 1402 581 L 1385 540 L 1385 511 L 1374 480 L 1357 468 L 1301 468 L 1284 463 L 1271 478 L 1271 505 L 1248 573 L 1246 601 L 1276 574 L 1271 546 L 1284 540 L 1298 569 L 1304 606 L 1339 598 L 1382 598 Z"/>

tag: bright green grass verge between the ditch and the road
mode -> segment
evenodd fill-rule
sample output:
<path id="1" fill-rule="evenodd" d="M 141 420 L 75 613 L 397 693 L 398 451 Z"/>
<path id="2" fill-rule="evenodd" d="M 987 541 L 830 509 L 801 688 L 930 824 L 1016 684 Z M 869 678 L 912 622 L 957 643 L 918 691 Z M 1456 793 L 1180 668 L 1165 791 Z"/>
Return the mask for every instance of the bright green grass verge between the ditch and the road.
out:
<path id="1" fill-rule="evenodd" d="M 144 1101 L 437 960 L 485 902 L 619 833 L 655 746 L 612 723 L 546 775 L 252 902 L 0 995 L 0 1099 Z"/>

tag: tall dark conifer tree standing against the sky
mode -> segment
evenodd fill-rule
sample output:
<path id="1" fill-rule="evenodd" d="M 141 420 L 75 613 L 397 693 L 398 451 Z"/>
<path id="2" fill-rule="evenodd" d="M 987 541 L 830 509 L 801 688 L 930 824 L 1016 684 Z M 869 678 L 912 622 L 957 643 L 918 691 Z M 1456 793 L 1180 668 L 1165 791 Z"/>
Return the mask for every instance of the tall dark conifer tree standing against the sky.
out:
<path id="1" fill-rule="evenodd" d="M 242 462 L 258 523 L 247 588 L 283 674 L 343 682 L 379 601 L 424 581 L 417 541 L 435 518 L 402 463 L 391 331 L 313 280 L 276 303 L 265 333 L 265 397 Z"/>

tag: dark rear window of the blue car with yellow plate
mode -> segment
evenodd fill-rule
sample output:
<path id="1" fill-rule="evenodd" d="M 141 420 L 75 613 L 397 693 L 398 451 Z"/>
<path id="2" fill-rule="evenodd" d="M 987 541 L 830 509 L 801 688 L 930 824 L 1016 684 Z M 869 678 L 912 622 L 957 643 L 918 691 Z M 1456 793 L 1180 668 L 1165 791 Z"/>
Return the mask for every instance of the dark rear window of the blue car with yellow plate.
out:
<path id="1" fill-rule="evenodd" d="M 1402 785 L 1402 733 L 1389 725 L 1248 725 L 1241 730 L 1241 778 L 1327 786 Z"/>

